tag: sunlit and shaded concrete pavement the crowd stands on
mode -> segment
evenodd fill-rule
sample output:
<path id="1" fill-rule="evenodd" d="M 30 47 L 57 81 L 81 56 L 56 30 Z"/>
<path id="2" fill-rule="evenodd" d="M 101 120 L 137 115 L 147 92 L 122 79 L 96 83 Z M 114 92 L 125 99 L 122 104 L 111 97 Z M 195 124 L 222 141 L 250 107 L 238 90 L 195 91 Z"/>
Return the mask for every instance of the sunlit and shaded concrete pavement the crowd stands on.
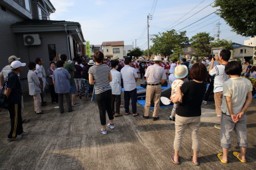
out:
<path id="1" fill-rule="evenodd" d="M 220 131 L 212 123 L 216 121 L 214 104 L 202 106 L 199 167 L 190 160 L 189 131 L 183 140 L 181 165 L 171 162 L 175 134 L 174 123 L 168 120 L 171 107 L 161 108 L 159 121 L 152 121 L 141 117 L 144 109 L 137 105 L 139 117 L 115 118 L 115 130 L 103 136 L 96 103 L 78 100 L 82 105 L 71 113 L 59 114 L 55 105 L 48 105 L 46 114 L 36 115 L 32 97 L 27 98 L 24 117 L 30 122 L 23 127 L 29 134 L 18 141 L 7 141 L 10 119 L 6 111 L 0 112 L 0 169 L 256 169 L 256 99 L 248 111 L 248 163 L 232 155 L 238 150 L 235 137 L 229 163 L 218 160 Z"/>

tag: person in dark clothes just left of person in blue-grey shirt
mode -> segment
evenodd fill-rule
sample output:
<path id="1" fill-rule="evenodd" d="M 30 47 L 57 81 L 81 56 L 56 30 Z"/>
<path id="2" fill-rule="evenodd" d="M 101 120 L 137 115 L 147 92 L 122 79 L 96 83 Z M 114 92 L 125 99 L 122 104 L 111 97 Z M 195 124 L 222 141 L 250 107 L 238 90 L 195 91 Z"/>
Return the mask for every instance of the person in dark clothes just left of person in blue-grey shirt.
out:
<path id="1" fill-rule="evenodd" d="M 53 71 L 55 70 L 55 62 L 50 62 L 50 68 L 47 70 L 47 77 L 49 78 L 48 84 L 51 91 L 51 102 L 58 103 L 58 94 L 55 93 L 54 84 L 53 84 Z"/>

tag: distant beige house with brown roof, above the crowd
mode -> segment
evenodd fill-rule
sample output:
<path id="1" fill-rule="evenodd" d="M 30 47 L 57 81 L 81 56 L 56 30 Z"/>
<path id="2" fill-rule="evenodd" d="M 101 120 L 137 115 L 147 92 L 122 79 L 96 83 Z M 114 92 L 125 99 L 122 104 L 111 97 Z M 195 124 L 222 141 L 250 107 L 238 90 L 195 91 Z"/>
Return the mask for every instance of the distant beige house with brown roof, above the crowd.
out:
<path id="1" fill-rule="evenodd" d="M 124 41 L 103 42 L 101 48 L 107 58 L 112 58 L 114 55 L 118 55 L 120 59 L 124 58 Z"/>

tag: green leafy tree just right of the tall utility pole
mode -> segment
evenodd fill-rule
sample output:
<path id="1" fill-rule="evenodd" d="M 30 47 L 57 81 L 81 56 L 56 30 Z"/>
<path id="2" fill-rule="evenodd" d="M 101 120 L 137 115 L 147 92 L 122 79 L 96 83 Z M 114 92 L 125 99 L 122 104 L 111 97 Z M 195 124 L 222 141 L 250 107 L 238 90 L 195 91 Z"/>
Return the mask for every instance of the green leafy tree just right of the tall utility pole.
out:
<path id="1" fill-rule="evenodd" d="M 186 32 L 177 33 L 175 30 L 155 34 L 151 40 L 153 53 L 159 53 L 163 56 L 171 55 L 175 47 L 183 48 L 183 44 L 189 42 Z"/>

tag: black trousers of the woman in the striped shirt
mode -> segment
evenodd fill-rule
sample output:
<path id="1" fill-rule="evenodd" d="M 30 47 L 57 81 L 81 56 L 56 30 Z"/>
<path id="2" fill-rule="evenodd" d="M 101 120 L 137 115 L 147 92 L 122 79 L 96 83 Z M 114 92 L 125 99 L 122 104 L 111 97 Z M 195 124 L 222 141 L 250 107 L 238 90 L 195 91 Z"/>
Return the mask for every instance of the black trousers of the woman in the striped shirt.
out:
<path id="1" fill-rule="evenodd" d="M 114 119 L 114 115 L 111 109 L 111 96 L 112 91 L 107 90 L 106 92 L 95 95 L 98 105 L 98 111 L 100 112 L 100 123 L 106 125 L 106 111 L 110 120 Z"/>

